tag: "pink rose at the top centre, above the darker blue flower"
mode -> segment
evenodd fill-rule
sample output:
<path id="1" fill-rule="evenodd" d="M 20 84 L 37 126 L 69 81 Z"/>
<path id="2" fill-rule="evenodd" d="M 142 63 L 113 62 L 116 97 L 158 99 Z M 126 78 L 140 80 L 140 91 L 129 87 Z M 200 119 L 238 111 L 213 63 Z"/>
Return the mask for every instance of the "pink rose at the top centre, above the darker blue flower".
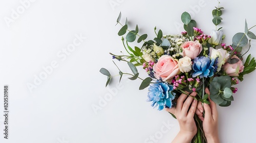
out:
<path id="1" fill-rule="evenodd" d="M 184 57 L 187 56 L 190 59 L 196 58 L 203 50 L 202 45 L 198 41 L 186 41 L 181 47 Z"/>

